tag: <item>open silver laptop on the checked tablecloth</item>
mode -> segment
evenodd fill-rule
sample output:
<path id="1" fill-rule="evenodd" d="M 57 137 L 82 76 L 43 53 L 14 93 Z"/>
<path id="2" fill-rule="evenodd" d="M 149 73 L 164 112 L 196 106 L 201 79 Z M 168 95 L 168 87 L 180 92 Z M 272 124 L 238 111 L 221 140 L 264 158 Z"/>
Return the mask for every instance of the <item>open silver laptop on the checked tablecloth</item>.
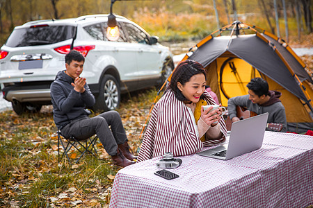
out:
<path id="1" fill-rule="evenodd" d="M 197 154 L 217 159 L 231 159 L 261 148 L 267 118 L 268 112 L 232 123 L 228 144 Z"/>

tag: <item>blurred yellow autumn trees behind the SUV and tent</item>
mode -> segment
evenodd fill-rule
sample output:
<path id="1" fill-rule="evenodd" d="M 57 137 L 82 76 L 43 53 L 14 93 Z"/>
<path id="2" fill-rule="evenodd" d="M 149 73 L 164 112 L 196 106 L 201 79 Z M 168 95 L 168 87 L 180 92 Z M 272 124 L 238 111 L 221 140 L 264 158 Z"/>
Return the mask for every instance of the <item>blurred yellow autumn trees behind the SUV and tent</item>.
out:
<path id="1" fill-rule="evenodd" d="M 110 6 L 110 0 L 0 0 L 0 44 L 27 21 L 109 13 Z M 160 42 L 200 40 L 239 19 L 287 42 L 312 45 L 307 39 L 312 34 L 310 0 L 124 0 L 115 1 L 113 13 L 159 36 Z"/>

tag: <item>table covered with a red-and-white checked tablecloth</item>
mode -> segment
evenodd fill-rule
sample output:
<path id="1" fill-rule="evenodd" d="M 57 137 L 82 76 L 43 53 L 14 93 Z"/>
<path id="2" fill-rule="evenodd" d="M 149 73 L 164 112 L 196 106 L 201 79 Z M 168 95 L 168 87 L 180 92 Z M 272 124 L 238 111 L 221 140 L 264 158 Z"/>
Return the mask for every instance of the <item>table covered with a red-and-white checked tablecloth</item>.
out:
<path id="1" fill-rule="evenodd" d="M 161 157 L 122 168 L 115 176 L 110 207 L 306 207 L 313 205 L 313 137 L 265 132 L 262 148 L 224 161 L 179 157 L 154 175 Z"/>

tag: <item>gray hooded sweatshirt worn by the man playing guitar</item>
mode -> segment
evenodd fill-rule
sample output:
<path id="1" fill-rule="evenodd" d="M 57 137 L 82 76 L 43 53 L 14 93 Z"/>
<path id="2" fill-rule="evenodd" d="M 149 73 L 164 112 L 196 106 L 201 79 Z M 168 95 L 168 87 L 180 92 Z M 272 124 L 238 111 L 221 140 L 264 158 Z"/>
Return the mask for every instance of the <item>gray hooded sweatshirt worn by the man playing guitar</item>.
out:
<path id="1" fill-rule="evenodd" d="M 263 114 L 265 112 L 268 112 L 267 122 L 282 123 L 283 125 L 282 132 L 286 132 L 287 131 L 286 113 L 284 111 L 284 105 L 282 105 L 282 102 L 279 99 L 281 93 L 270 90 L 268 95 L 271 96 L 271 98 L 269 99 L 268 102 L 263 103 L 262 105 L 252 103 L 252 101 L 249 100 L 248 94 L 244 96 L 230 98 L 228 100 L 227 106 L 228 116 L 230 116 L 230 119 L 236 116 L 236 105 L 246 107 L 248 110 L 255 112 L 256 114 Z M 266 128 L 266 130 L 270 129 Z"/>

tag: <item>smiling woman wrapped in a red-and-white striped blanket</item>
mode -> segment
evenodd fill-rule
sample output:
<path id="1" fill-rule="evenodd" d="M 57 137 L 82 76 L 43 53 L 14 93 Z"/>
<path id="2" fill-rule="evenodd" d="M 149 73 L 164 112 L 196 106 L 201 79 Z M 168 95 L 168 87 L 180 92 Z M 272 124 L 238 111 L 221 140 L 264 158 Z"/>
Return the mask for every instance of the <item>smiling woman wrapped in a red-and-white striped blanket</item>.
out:
<path id="1" fill-rule="evenodd" d="M 203 146 L 225 141 L 227 131 L 221 108 L 209 112 L 213 107 L 202 107 L 216 104 L 205 91 L 206 80 L 200 63 L 184 60 L 177 65 L 170 85 L 154 106 L 137 162 L 168 152 L 174 156 L 191 155 Z"/>

